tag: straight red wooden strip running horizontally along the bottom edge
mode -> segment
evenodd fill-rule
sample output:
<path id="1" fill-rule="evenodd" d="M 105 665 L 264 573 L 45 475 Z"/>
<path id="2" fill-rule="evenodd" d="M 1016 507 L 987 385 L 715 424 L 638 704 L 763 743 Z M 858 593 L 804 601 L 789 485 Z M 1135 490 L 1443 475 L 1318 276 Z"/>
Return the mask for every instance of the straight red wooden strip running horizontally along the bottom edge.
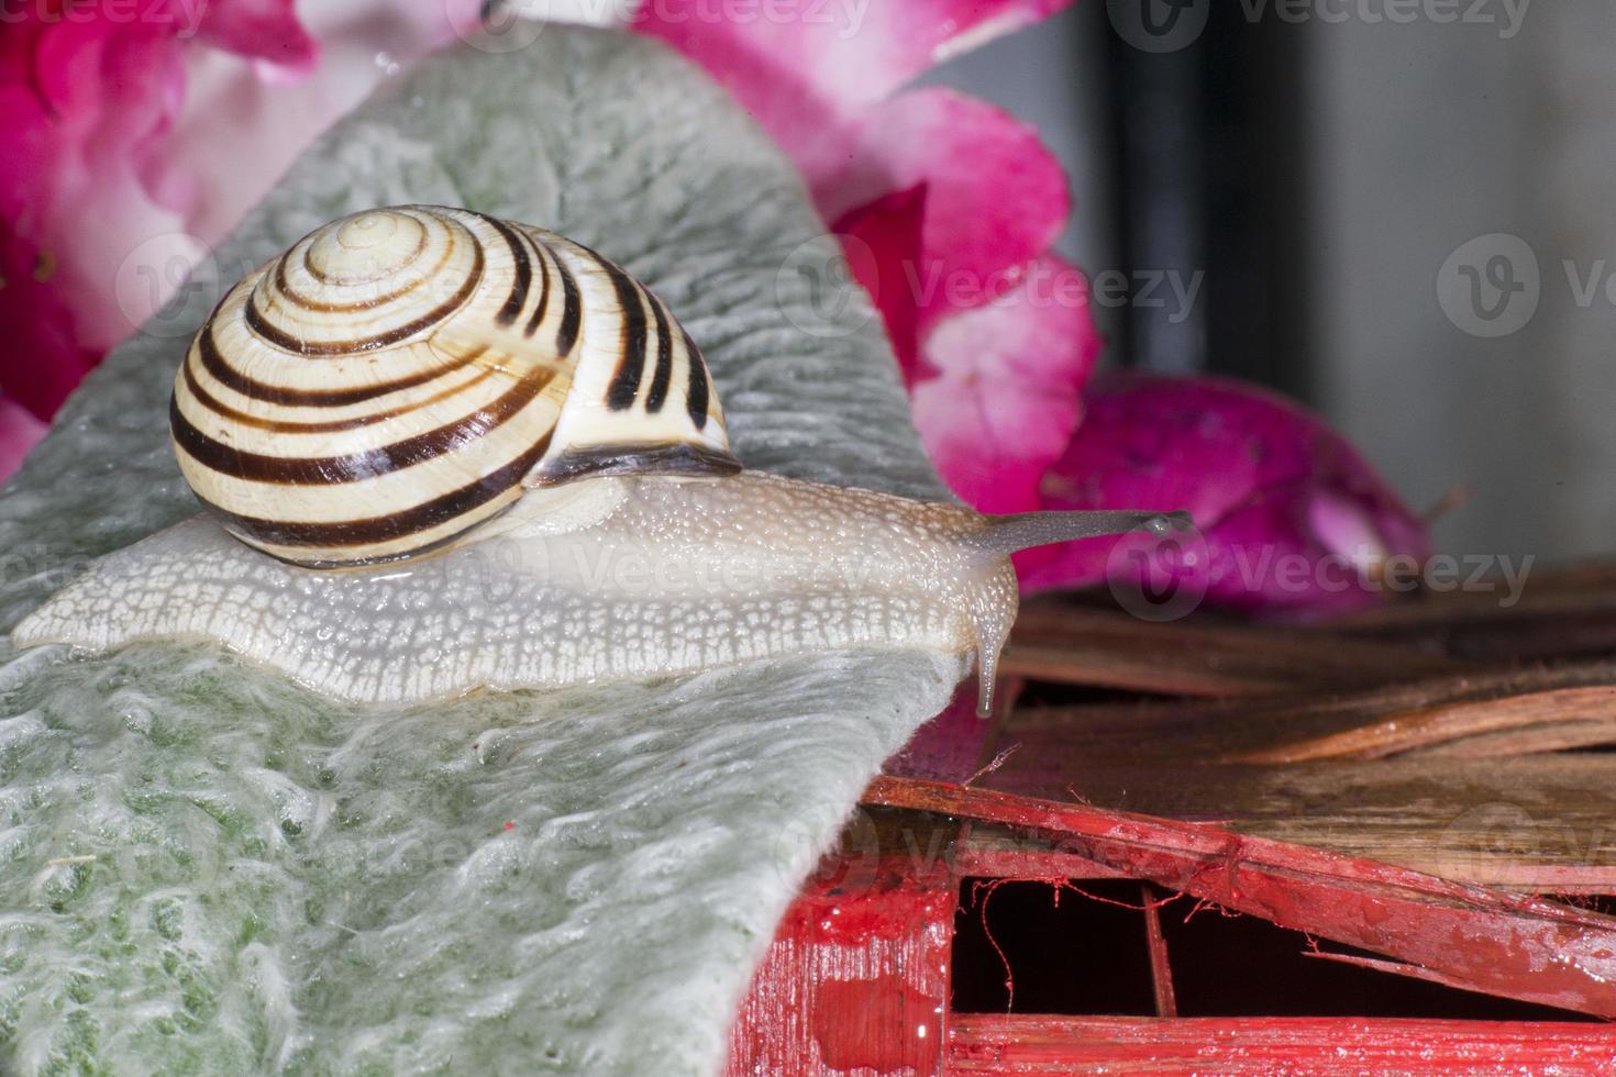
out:
<path id="1" fill-rule="evenodd" d="M 947 1074 L 1611 1074 L 1597 1024 L 957 1014 Z"/>

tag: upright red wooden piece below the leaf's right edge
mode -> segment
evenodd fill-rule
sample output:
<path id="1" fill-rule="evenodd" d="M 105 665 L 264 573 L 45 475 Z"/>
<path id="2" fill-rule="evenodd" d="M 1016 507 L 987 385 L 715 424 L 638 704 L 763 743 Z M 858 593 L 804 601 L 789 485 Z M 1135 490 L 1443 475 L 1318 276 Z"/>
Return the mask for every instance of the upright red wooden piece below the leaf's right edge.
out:
<path id="1" fill-rule="evenodd" d="M 821 874 L 753 977 L 726 1074 L 939 1074 L 957 899 L 945 869 L 916 875 L 908 857 Z"/>

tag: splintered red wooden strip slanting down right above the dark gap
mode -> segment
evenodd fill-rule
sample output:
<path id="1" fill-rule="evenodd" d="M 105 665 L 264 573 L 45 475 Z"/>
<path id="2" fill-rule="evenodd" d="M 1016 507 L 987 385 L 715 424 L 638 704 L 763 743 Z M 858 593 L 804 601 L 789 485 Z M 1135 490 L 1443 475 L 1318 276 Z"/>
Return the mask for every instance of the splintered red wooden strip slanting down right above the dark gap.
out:
<path id="1" fill-rule="evenodd" d="M 1616 919 L 1283 841 L 939 782 L 866 804 L 1028 828 L 1134 878 L 1419 966 L 1425 979 L 1616 1017 Z"/>

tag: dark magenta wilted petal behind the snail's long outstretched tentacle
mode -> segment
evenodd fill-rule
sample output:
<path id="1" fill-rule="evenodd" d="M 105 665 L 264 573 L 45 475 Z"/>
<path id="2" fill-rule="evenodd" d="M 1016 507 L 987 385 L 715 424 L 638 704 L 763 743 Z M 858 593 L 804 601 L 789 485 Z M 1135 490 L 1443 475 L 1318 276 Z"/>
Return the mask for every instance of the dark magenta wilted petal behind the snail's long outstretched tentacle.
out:
<path id="1" fill-rule="evenodd" d="M 1097 378 L 1044 504 L 1189 510 L 1196 533 L 1175 538 L 1165 570 L 1227 609 L 1362 609 L 1385 596 L 1390 557 L 1430 552 L 1424 525 L 1346 439 L 1278 396 L 1212 378 Z M 1144 583 L 1162 589 L 1164 564 Z M 1088 586 L 1141 567 L 1143 554 L 1091 539 L 1023 565 L 1023 585 Z"/>

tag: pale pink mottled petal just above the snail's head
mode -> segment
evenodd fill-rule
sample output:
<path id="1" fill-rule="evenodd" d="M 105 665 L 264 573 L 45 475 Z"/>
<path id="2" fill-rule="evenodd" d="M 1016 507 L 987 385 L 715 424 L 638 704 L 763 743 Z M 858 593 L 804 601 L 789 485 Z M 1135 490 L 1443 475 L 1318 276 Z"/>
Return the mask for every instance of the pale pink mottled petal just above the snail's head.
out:
<path id="1" fill-rule="evenodd" d="M 923 344 L 937 376 L 915 386 L 915 425 L 953 492 L 981 512 L 1039 507 L 1099 349 L 1088 286 L 1054 257 L 1000 300 L 941 321 Z"/>

